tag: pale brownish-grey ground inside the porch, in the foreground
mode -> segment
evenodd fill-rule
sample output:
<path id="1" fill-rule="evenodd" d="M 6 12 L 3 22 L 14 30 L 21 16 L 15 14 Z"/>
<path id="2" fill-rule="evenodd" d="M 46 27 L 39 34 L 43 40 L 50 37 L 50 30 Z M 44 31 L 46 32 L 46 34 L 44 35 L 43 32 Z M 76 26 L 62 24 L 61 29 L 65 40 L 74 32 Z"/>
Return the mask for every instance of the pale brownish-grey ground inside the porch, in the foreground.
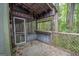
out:
<path id="1" fill-rule="evenodd" d="M 39 42 L 28 42 L 22 51 L 22 56 L 70 56 L 71 54 L 57 47 Z"/>

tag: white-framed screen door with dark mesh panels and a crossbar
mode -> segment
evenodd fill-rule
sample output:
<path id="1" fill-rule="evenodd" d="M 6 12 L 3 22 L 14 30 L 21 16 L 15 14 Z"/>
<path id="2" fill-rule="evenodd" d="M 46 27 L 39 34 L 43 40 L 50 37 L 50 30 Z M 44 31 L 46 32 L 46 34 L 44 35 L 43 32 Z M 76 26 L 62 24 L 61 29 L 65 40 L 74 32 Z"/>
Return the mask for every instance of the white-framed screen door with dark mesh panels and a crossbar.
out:
<path id="1" fill-rule="evenodd" d="M 25 19 L 13 17 L 15 44 L 26 43 Z"/>

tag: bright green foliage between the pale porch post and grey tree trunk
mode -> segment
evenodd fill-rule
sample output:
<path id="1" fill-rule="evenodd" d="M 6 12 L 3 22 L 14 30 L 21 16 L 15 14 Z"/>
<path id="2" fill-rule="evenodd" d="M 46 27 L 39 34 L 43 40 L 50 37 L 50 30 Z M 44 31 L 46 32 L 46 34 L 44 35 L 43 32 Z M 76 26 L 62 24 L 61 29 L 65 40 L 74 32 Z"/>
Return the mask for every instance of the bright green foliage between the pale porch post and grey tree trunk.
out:
<path id="1" fill-rule="evenodd" d="M 59 4 L 59 31 L 67 32 L 67 4 Z"/>

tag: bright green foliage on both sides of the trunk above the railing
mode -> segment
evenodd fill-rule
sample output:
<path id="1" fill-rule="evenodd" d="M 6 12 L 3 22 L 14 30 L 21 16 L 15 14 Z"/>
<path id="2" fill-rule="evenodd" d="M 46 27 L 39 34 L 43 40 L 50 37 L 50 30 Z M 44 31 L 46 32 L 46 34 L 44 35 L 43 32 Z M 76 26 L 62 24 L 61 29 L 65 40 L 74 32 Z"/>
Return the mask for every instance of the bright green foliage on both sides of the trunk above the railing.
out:
<path id="1" fill-rule="evenodd" d="M 61 32 L 68 32 L 67 28 L 67 13 L 68 13 L 68 4 L 59 4 L 59 31 Z M 75 4 L 75 11 L 74 11 L 74 20 L 73 20 L 73 28 L 72 32 L 79 33 L 79 4 Z"/>

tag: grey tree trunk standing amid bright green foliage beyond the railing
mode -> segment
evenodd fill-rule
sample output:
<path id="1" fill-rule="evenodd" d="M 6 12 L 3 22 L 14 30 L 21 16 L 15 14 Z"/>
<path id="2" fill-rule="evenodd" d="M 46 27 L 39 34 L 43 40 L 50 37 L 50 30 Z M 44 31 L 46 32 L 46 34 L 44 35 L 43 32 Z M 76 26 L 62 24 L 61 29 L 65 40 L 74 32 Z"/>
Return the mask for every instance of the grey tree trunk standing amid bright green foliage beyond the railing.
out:
<path id="1" fill-rule="evenodd" d="M 68 32 L 72 32 L 73 29 L 74 10 L 75 10 L 75 4 L 74 3 L 68 4 L 68 15 L 67 15 Z"/>

